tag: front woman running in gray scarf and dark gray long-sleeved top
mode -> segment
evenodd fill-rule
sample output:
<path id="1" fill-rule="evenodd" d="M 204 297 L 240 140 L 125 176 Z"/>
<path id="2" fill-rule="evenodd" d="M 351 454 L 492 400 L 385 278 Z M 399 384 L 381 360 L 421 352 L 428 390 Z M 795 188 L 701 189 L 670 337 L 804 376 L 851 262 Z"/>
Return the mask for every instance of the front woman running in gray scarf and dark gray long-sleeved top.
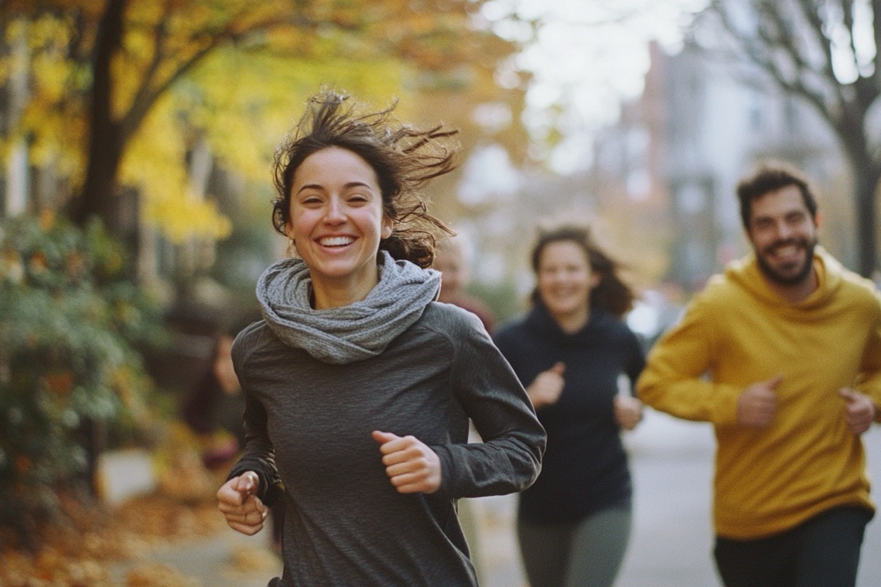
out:
<path id="1" fill-rule="evenodd" d="M 453 167 L 454 133 L 346 100 L 315 95 L 277 154 L 297 256 L 263 273 L 264 319 L 233 346 L 247 446 L 219 509 L 254 534 L 285 500 L 271 585 L 474 585 L 456 500 L 528 487 L 544 430 L 478 319 L 434 302 L 445 227 L 418 189 Z"/>

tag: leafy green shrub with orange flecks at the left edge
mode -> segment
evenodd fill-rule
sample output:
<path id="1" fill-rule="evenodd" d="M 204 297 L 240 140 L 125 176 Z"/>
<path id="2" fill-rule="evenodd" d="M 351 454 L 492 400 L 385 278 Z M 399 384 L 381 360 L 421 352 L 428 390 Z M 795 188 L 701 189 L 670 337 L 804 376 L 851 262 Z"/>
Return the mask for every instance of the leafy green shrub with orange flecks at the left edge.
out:
<path id="1" fill-rule="evenodd" d="M 137 349 L 163 329 L 128 271 L 100 224 L 0 220 L 0 525 L 27 532 L 56 513 L 59 487 L 97 457 L 89 431 L 119 437 L 144 415 Z"/>

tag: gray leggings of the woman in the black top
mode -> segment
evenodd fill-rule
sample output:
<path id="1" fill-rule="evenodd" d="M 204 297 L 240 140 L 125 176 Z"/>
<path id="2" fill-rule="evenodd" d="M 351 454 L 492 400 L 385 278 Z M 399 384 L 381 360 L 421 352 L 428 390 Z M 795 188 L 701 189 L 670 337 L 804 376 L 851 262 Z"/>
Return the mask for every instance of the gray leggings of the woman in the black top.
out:
<path id="1" fill-rule="evenodd" d="M 577 524 L 517 521 L 532 587 L 611 587 L 630 540 L 630 508 L 603 509 Z"/>

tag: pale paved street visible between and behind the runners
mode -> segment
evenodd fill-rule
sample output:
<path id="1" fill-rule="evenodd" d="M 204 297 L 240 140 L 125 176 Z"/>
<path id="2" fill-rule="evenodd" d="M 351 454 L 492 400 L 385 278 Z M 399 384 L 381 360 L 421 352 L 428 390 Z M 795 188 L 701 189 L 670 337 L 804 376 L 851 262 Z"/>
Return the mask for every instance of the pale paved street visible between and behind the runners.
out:
<path id="1" fill-rule="evenodd" d="M 873 495 L 881 496 L 881 427 L 864 436 Z M 707 424 L 648 411 L 626 436 L 635 487 L 634 528 L 617 587 L 718 587 L 712 561 L 710 495 L 714 438 Z M 512 530 L 514 499 L 480 503 L 483 587 L 526 587 Z M 858 587 L 881 586 L 881 522 L 868 528 Z"/>

